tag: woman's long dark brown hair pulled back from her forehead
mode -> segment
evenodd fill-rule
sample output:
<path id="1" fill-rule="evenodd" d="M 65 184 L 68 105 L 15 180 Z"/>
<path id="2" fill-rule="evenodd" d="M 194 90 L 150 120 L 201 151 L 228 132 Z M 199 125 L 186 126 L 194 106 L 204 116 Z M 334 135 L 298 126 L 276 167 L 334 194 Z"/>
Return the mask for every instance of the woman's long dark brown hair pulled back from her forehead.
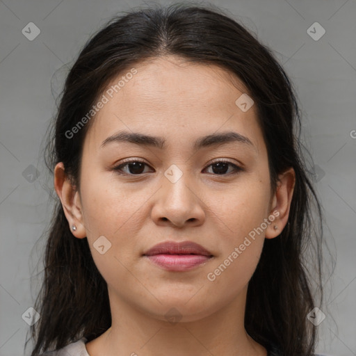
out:
<path id="1" fill-rule="evenodd" d="M 111 17 L 88 39 L 66 76 L 47 138 L 46 166 L 53 174 L 56 163 L 63 162 L 73 186 L 80 190 L 83 140 L 95 117 L 75 138 L 68 139 L 65 133 L 90 111 L 119 73 L 168 55 L 217 65 L 245 85 L 257 108 L 273 193 L 280 173 L 288 168 L 296 172 L 288 224 L 280 236 L 264 242 L 248 285 L 244 322 L 248 334 L 266 348 L 275 344 L 283 355 L 313 355 L 316 326 L 307 314 L 320 305 L 314 304 L 312 286 L 317 286 L 323 300 L 323 215 L 307 175 L 296 91 L 273 52 L 223 10 L 192 3 L 156 4 Z M 58 350 L 81 337 L 91 341 L 111 326 L 107 284 L 92 259 L 88 239 L 73 237 L 56 198 L 47 232 L 44 279 L 35 300 L 41 317 L 31 326 L 31 356 Z M 311 261 L 315 266 L 308 268 Z"/>

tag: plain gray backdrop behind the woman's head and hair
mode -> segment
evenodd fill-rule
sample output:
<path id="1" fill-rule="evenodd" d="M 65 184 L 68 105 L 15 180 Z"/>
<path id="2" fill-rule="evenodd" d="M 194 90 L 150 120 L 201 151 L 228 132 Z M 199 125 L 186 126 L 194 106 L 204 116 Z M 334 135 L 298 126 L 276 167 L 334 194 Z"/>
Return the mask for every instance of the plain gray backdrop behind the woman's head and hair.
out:
<path id="1" fill-rule="evenodd" d="M 314 159 L 324 207 L 325 239 L 334 259 L 326 265 L 327 312 L 318 326 L 317 351 L 356 355 L 356 234 L 351 223 L 356 219 L 356 1 L 211 3 L 271 47 L 296 86 L 305 145 Z M 24 355 L 29 325 L 22 315 L 33 306 L 40 283 L 31 275 L 42 269 L 40 236 L 49 224 L 54 192 L 41 156 L 41 141 L 55 112 L 51 90 L 54 96 L 60 92 L 63 65 L 73 63 L 89 35 L 117 11 L 142 4 L 0 0 L 1 356 Z M 22 34 L 29 22 L 41 31 L 33 41 Z M 319 40 L 307 32 L 314 22 L 326 31 Z"/>

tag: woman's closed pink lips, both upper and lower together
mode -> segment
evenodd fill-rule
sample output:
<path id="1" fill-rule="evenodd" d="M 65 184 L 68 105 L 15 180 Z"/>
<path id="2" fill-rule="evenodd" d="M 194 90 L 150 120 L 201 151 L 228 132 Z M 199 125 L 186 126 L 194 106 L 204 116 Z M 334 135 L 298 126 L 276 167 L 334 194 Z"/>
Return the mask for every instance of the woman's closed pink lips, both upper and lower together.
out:
<path id="1" fill-rule="evenodd" d="M 147 250 L 143 257 L 165 270 L 186 271 L 206 263 L 213 254 L 192 241 L 165 241 Z"/>

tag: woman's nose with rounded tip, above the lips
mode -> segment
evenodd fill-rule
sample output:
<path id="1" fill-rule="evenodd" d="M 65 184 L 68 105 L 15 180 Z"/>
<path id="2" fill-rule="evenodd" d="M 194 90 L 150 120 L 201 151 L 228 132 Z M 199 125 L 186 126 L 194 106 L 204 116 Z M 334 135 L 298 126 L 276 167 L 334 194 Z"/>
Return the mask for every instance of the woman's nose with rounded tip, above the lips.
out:
<path id="1" fill-rule="evenodd" d="M 174 183 L 163 177 L 152 208 L 152 220 L 156 225 L 175 227 L 202 225 L 206 203 L 199 195 L 188 173 Z"/>

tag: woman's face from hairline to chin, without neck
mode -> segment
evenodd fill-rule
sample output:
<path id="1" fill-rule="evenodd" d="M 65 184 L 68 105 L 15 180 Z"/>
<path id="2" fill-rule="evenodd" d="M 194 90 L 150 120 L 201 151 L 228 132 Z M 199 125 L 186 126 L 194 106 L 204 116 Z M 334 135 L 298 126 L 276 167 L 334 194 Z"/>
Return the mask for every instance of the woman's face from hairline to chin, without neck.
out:
<path id="1" fill-rule="evenodd" d="M 88 238 L 111 302 L 194 321 L 244 298 L 264 238 L 280 234 L 266 145 L 255 105 L 220 67 L 171 56 L 135 68 L 99 98 L 71 223 Z M 122 131 L 158 144 L 107 140 Z M 144 164 L 122 165 L 127 159 Z M 159 266 L 143 254 L 163 241 L 193 241 L 213 257 L 186 257 L 203 261 L 191 268 Z"/>

